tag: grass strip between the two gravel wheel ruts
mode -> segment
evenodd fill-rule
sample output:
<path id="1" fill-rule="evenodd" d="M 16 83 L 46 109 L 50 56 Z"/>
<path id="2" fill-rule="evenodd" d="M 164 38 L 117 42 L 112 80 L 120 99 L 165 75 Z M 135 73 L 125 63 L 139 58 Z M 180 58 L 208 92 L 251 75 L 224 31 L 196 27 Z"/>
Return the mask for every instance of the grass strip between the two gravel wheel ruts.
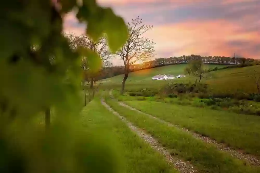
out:
<path id="1" fill-rule="evenodd" d="M 259 172 L 259 168 L 251 167 L 244 161 L 219 151 L 212 144 L 204 143 L 187 132 L 176 127 L 170 127 L 142 113 L 122 107 L 116 101 L 107 100 L 107 102 L 121 116 L 126 117 L 136 126 L 145 129 L 149 134 L 157 138 L 161 144 L 171 149 L 172 155 L 190 161 L 197 167 L 199 172 Z"/>

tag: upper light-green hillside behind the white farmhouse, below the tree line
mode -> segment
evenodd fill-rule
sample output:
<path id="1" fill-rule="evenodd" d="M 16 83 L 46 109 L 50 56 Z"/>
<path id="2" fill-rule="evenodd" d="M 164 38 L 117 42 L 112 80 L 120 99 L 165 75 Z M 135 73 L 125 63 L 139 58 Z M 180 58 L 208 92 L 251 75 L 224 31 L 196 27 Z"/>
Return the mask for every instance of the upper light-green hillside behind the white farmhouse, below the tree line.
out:
<path id="1" fill-rule="evenodd" d="M 184 68 L 187 64 L 173 64 L 173 65 L 167 65 L 152 69 L 146 69 L 146 70 L 140 70 L 129 73 L 127 82 L 129 81 L 148 81 L 152 80 L 152 76 L 159 75 L 159 74 L 171 74 L 171 75 L 179 75 L 183 74 Z M 206 68 L 215 68 L 215 67 L 223 67 L 224 65 L 214 65 L 209 64 L 205 65 Z M 109 81 L 109 82 L 121 82 L 123 79 L 123 75 L 114 76 L 111 78 L 106 78 L 101 81 Z"/>

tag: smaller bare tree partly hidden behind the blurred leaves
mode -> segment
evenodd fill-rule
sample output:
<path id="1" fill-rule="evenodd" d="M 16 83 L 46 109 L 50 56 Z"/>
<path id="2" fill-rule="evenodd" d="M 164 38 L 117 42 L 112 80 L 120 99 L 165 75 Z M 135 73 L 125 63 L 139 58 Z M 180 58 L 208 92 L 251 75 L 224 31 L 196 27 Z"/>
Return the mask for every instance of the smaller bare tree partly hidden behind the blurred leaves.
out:
<path id="1" fill-rule="evenodd" d="M 93 41 L 93 39 L 91 39 L 87 35 L 82 35 L 80 38 L 81 38 L 82 46 L 89 48 L 90 50 L 98 54 L 98 56 L 102 61 L 102 67 L 111 65 L 109 60 L 113 58 L 113 54 L 108 49 L 108 44 L 105 37 L 101 37 L 97 42 Z M 100 70 L 97 70 L 95 73 L 88 73 L 88 76 L 90 78 L 90 88 L 93 88 L 94 86 L 93 82 L 96 81 L 95 77 L 99 75 Z"/>

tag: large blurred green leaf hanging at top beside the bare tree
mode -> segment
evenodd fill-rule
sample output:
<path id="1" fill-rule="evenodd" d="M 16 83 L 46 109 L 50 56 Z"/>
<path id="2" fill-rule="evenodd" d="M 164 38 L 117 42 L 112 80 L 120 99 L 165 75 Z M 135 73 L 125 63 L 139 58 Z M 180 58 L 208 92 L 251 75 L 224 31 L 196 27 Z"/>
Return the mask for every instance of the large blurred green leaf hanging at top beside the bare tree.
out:
<path id="1" fill-rule="evenodd" d="M 114 14 L 111 8 L 94 7 L 90 9 L 89 6 L 79 8 L 77 18 L 80 21 L 87 21 L 87 34 L 97 41 L 104 33 L 107 34 L 108 45 L 112 52 L 126 43 L 128 39 L 128 29 L 121 17 Z"/>

